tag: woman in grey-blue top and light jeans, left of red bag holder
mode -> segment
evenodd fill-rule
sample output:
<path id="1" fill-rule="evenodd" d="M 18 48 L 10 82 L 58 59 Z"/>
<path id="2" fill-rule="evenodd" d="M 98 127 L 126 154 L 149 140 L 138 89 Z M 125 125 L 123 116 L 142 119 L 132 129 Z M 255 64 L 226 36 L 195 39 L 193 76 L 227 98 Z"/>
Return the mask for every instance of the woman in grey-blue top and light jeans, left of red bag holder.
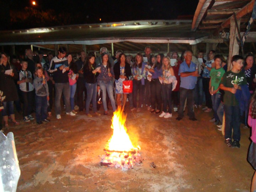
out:
<path id="1" fill-rule="evenodd" d="M 113 75 L 114 71 L 111 68 L 111 63 L 108 59 L 107 53 L 102 53 L 101 55 L 102 64 L 100 64 L 101 73 L 97 77 L 98 85 L 100 85 L 100 89 L 102 90 L 102 103 L 104 107 L 104 114 L 107 115 L 107 93 L 110 98 L 110 102 L 113 108 L 113 111 L 116 111 L 116 103 L 114 101 L 113 95 Z M 106 92 L 107 90 L 107 92 Z"/>

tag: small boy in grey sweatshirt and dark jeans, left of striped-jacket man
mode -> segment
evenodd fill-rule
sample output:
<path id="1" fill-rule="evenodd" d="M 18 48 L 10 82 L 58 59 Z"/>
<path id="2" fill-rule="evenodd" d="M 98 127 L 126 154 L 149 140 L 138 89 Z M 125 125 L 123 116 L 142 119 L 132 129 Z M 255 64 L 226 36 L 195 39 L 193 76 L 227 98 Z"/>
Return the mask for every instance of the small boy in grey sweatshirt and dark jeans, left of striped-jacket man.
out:
<path id="1" fill-rule="evenodd" d="M 49 91 L 46 79 L 43 76 L 43 68 L 37 67 L 34 78 L 34 88 L 36 90 L 36 121 L 37 124 L 49 122 L 47 119 L 47 101 L 49 101 Z"/>

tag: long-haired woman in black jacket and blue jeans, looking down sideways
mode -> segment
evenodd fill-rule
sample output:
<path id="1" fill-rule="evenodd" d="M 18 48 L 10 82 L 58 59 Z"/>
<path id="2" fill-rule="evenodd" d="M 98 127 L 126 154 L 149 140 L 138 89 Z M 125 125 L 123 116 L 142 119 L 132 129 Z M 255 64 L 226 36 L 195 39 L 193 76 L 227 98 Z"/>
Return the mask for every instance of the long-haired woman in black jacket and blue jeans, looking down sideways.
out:
<path id="1" fill-rule="evenodd" d="M 83 69 L 84 69 L 85 86 L 87 90 L 87 98 L 85 102 L 86 114 L 88 117 L 92 117 L 92 115 L 89 113 L 90 102 L 92 100 L 93 111 L 97 116 L 100 116 L 100 114 L 97 113 L 96 97 L 97 97 L 97 76 L 101 73 L 101 70 L 96 69 L 94 53 L 88 54 Z"/>

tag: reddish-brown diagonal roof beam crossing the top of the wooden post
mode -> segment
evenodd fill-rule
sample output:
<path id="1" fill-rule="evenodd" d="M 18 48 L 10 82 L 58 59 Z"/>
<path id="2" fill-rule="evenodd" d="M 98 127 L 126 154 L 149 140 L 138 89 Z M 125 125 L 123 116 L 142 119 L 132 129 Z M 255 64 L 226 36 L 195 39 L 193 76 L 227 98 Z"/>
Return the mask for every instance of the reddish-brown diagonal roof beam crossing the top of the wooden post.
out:
<path id="1" fill-rule="evenodd" d="M 239 11 L 236 11 L 235 14 L 236 14 L 236 19 L 240 19 L 242 16 L 252 12 L 253 10 L 253 7 L 254 7 L 254 3 L 255 3 L 255 0 L 251 0 L 247 5 L 245 5 L 242 9 L 240 9 Z M 229 27 L 230 25 L 230 18 L 233 17 L 230 16 L 226 21 L 224 21 L 217 29 L 217 31 L 222 31 L 224 28 L 226 27 Z"/>

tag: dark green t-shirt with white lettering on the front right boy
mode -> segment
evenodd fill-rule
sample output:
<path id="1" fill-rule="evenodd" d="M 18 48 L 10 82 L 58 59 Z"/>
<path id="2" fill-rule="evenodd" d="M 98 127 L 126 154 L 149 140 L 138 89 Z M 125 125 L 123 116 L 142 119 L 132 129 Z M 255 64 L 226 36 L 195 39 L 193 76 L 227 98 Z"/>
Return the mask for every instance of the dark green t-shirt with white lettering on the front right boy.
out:
<path id="1" fill-rule="evenodd" d="M 239 73 L 233 73 L 231 70 L 224 73 L 220 84 L 223 84 L 225 87 L 234 87 L 234 80 L 237 76 L 238 85 L 246 85 L 246 77 L 242 71 Z M 224 95 L 224 105 L 228 106 L 237 106 L 239 103 L 235 98 L 235 94 L 231 93 L 230 91 L 225 90 Z"/>

